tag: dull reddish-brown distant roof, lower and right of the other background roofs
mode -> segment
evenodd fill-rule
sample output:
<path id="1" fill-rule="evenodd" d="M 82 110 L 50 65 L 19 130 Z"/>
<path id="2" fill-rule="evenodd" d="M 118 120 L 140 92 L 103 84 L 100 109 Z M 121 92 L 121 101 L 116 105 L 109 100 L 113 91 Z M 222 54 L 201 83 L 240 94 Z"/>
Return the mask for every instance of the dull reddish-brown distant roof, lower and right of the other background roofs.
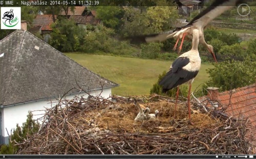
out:
<path id="1" fill-rule="evenodd" d="M 75 23 L 78 23 L 78 24 L 97 25 L 100 23 L 100 19 L 97 19 L 93 16 L 76 15 L 76 16 L 70 16 L 70 18 L 73 18 L 75 20 Z"/>

